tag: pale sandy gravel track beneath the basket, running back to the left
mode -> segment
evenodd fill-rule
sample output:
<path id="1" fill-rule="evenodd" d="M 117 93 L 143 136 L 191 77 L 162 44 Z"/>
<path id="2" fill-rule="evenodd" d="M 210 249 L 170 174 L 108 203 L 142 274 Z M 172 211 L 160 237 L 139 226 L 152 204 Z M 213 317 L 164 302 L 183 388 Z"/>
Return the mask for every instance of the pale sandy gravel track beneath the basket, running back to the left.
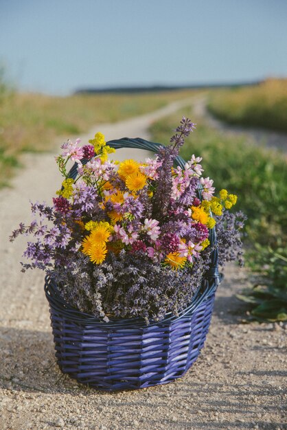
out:
<path id="1" fill-rule="evenodd" d="M 107 139 L 148 138 L 153 120 L 182 105 L 96 131 Z M 122 157 L 139 152 L 122 150 Z M 51 201 L 60 174 L 51 155 L 27 155 L 25 163 L 13 188 L 0 192 L 0 429 L 287 429 L 286 325 L 240 324 L 243 305 L 234 294 L 248 284 L 248 273 L 233 266 L 218 288 L 205 348 L 184 378 L 106 394 L 62 376 L 43 273 L 20 273 L 25 240 L 8 242 L 10 231 L 30 220 L 29 199 Z"/>

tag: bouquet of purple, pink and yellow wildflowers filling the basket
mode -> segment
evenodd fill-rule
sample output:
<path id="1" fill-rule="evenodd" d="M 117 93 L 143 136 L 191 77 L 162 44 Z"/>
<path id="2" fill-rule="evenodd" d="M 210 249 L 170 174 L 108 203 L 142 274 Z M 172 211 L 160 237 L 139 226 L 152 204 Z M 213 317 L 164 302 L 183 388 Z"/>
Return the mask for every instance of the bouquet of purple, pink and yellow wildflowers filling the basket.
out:
<path id="1" fill-rule="evenodd" d="M 220 264 L 240 259 L 244 215 L 229 209 L 237 197 L 203 177 L 200 157 L 174 167 L 194 123 L 183 117 L 153 159 L 108 159 L 104 135 L 89 144 L 68 140 L 56 157 L 64 178 L 53 205 L 32 204 L 34 220 L 23 271 L 51 275 L 71 306 L 108 321 L 113 317 L 163 319 L 185 308 L 209 268 L 209 231 L 216 226 Z M 77 164 L 77 179 L 67 171 Z"/>

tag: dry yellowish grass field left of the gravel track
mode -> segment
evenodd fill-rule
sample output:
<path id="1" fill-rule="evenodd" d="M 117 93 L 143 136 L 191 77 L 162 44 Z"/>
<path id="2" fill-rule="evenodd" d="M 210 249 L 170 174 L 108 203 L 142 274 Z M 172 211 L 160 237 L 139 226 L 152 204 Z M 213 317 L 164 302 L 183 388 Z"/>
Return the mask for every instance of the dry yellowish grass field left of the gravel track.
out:
<path id="1" fill-rule="evenodd" d="M 116 122 L 148 113 L 192 91 L 143 94 L 98 94 L 51 97 L 17 93 L 0 76 L 0 188 L 9 183 L 19 155 L 25 151 L 51 150 L 55 138 L 63 140 L 87 133 L 103 122 Z"/>

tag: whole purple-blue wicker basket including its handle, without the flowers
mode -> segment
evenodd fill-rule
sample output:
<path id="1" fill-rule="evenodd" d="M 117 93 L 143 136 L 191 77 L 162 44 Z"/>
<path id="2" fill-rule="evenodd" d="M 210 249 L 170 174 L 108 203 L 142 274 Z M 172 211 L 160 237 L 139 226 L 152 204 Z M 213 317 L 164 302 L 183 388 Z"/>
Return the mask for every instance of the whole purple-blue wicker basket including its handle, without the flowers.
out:
<path id="1" fill-rule="evenodd" d="M 143 139 L 119 139 L 107 143 L 117 148 L 157 152 L 160 144 Z M 87 162 L 87 161 L 83 161 Z M 177 157 L 176 164 L 185 161 Z M 76 178 L 76 165 L 69 176 Z M 211 247 L 216 243 L 210 232 Z M 211 253 L 211 267 L 190 305 L 178 317 L 162 321 L 141 318 L 111 319 L 104 323 L 65 303 L 52 278 L 45 278 L 56 359 L 60 370 L 90 387 L 113 391 L 138 389 L 174 381 L 187 372 L 203 348 L 209 329 L 214 295 L 220 282 L 218 254 Z"/>

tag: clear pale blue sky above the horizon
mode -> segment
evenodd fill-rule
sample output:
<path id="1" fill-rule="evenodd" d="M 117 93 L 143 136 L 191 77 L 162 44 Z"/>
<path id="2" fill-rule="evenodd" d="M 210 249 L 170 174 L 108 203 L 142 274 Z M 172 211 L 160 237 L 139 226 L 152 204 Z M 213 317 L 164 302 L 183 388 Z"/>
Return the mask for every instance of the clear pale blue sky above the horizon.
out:
<path id="1" fill-rule="evenodd" d="M 286 0 L 0 0 L 19 89 L 238 82 L 287 75 Z"/>

